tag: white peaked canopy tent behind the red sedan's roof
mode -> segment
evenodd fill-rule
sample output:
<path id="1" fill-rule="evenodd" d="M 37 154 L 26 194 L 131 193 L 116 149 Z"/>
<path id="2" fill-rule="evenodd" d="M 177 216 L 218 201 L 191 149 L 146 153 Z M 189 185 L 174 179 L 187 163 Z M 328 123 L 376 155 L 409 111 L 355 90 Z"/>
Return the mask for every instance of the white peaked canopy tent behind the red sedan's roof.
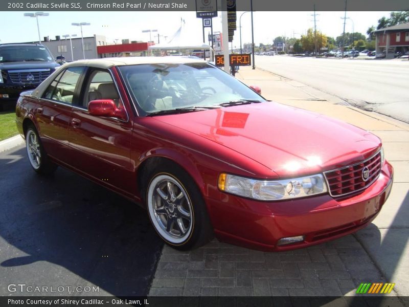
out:
<path id="1" fill-rule="evenodd" d="M 149 50 L 210 50 L 212 47 L 200 41 L 197 35 L 187 33 L 186 28 L 182 25 L 165 43 L 149 46 Z"/>

